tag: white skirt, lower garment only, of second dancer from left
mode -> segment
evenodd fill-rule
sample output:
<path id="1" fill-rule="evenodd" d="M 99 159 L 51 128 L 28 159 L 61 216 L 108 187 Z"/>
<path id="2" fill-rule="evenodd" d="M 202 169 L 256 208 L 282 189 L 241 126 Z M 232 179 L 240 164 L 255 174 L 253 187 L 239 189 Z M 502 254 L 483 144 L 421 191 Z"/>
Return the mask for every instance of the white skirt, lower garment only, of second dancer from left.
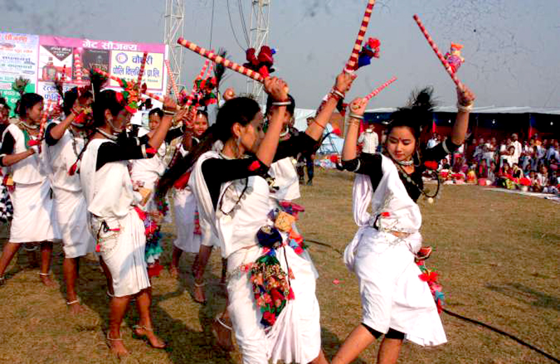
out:
<path id="1" fill-rule="evenodd" d="M 82 191 L 55 189 L 55 212 L 64 256 L 77 258 L 94 252 L 95 240 L 87 228 L 87 204 Z"/>

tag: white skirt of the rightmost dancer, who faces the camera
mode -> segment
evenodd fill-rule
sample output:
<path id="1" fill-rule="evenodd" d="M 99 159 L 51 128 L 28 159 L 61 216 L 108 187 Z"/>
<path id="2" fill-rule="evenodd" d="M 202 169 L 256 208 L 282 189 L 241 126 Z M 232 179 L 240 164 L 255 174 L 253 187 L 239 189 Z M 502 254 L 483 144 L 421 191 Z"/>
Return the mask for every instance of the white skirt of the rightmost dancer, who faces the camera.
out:
<path id="1" fill-rule="evenodd" d="M 362 322 L 380 333 L 393 328 L 422 346 L 447 342 L 436 303 L 414 261 L 422 235 L 401 240 L 364 228 L 357 236 L 347 247 L 354 249 L 354 261 L 348 261 L 347 252 L 345 260 L 359 279 Z"/>

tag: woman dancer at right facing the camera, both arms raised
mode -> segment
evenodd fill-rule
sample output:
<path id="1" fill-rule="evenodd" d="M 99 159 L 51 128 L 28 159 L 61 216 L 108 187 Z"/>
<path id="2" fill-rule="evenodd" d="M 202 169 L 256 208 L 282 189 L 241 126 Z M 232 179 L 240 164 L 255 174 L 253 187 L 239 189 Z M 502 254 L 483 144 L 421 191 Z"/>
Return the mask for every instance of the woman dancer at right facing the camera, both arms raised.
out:
<path id="1" fill-rule="evenodd" d="M 391 115 L 384 152 L 359 157 L 359 122 L 367 102 L 356 99 L 350 106 L 343 166 L 358 173 L 353 206 L 359 230 L 346 247 L 345 263 L 359 279 L 362 321 L 333 364 L 350 363 L 382 335 L 381 364 L 396 363 L 405 338 L 420 345 L 447 341 L 429 286 L 419 279 L 415 264 L 422 245 L 422 216 L 416 201 L 424 194 L 424 162 L 440 161 L 464 142 L 474 96 L 466 88 L 458 89 L 457 95 L 457 119 L 445 142 L 420 150 L 420 134 L 432 120 L 431 89 L 424 89 L 410 105 Z"/>

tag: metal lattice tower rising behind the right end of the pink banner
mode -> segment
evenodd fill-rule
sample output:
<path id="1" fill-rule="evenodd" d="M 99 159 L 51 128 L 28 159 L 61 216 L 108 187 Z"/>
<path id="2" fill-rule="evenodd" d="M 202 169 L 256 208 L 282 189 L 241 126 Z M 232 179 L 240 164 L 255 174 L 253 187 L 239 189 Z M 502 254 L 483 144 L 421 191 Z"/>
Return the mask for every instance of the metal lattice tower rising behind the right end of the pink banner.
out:
<path id="1" fill-rule="evenodd" d="M 183 18 L 185 17 L 185 0 L 165 1 L 165 34 L 164 43 L 169 49 L 169 63 L 178 87 L 185 85 L 182 80 L 182 49 L 177 39 L 182 36 Z"/>

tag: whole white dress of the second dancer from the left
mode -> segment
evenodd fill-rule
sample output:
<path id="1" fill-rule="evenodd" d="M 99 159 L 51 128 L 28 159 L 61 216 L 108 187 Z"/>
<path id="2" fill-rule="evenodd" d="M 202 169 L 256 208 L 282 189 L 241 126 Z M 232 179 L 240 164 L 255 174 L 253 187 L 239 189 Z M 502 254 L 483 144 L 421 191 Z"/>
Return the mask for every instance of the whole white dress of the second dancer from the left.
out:
<path id="1" fill-rule="evenodd" d="M 64 131 L 55 145 L 43 141 L 43 157 L 54 192 L 55 213 L 66 258 L 85 256 L 95 249 L 95 240 L 87 227 L 87 205 L 80 176 L 78 173 L 69 175 L 84 143 L 84 139 L 73 135 L 70 129 Z"/>

